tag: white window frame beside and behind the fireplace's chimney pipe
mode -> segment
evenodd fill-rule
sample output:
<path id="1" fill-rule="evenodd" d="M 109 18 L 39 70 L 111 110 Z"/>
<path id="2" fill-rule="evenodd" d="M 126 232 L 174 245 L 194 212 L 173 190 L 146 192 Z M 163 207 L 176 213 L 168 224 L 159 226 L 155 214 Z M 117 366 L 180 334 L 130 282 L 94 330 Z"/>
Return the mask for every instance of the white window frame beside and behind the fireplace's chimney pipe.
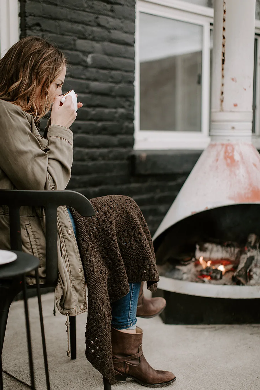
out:
<path id="1" fill-rule="evenodd" d="M 201 131 L 155 131 L 140 129 L 140 63 L 139 63 L 139 13 L 145 12 L 174 20 L 194 23 L 203 27 L 202 43 L 202 113 Z M 137 0 L 135 24 L 135 104 L 134 149 L 205 149 L 210 142 L 210 24 L 214 10 L 181 0 Z M 260 20 L 255 21 L 255 33 L 260 35 Z M 260 148 L 260 38 L 258 40 L 258 67 L 256 70 L 256 133 L 253 144 Z"/>

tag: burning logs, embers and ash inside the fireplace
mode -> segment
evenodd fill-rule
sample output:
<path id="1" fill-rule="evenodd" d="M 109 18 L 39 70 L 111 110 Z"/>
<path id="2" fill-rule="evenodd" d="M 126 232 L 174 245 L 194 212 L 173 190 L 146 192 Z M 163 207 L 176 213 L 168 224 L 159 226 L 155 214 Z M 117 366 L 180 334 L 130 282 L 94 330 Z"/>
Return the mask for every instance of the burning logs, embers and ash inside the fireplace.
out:
<path id="1" fill-rule="evenodd" d="M 175 255 L 157 268 L 161 276 L 188 282 L 260 286 L 259 244 L 256 234 L 249 234 L 244 245 L 211 239 L 197 243 L 193 254 Z"/>

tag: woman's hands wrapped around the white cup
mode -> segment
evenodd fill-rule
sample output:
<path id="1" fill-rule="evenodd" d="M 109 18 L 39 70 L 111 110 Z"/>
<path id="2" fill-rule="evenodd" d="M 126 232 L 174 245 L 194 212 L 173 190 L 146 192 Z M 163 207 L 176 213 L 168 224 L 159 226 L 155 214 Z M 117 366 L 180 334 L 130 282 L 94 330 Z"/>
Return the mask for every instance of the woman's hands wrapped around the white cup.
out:
<path id="1" fill-rule="evenodd" d="M 51 109 L 51 124 L 57 124 L 69 128 L 76 119 L 77 113 L 72 103 L 72 97 L 65 97 L 65 102 L 60 106 L 60 101 L 63 96 L 55 96 L 54 103 Z M 82 107 L 82 103 L 78 103 L 78 108 Z"/>

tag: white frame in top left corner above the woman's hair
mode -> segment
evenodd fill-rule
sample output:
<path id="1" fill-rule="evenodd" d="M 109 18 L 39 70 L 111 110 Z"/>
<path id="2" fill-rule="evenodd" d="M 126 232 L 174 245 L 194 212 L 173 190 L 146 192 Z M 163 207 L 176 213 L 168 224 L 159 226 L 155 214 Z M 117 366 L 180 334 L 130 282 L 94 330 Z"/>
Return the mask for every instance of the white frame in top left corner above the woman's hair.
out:
<path id="1" fill-rule="evenodd" d="M 0 58 L 19 41 L 19 2 L 0 0 Z"/>

